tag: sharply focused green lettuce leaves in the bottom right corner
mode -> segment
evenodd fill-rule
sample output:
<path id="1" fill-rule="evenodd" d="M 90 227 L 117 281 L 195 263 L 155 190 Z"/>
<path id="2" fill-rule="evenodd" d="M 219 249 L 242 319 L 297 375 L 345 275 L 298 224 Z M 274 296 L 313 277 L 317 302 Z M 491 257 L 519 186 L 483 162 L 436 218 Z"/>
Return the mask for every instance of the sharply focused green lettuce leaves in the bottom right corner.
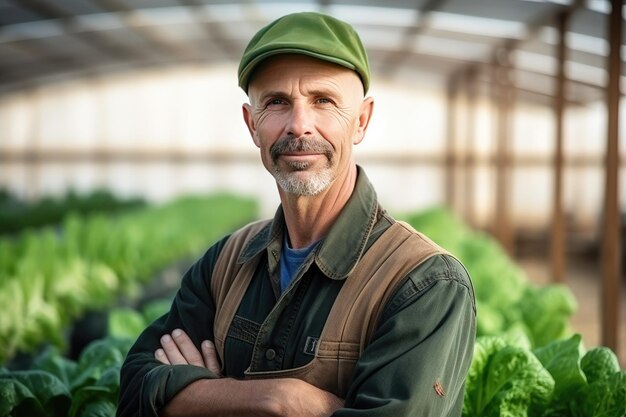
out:
<path id="1" fill-rule="evenodd" d="M 626 417 L 626 371 L 580 335 L 531 350 L 520 333 L 478 338 L 463 417 Z"/>

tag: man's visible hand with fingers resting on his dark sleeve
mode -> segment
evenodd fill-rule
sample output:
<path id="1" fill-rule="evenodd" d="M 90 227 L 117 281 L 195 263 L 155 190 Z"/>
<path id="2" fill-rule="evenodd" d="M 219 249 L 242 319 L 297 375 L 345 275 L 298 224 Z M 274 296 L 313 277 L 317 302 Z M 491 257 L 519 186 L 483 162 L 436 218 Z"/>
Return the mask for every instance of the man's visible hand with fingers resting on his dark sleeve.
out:
<path id="1" fill-rule="evenodd" d="M 220 361 L 213 342 L 203 341 L 200 349 L 202 352 L 198 351 L 187 333 L 176 329 L 171 335 L 161 337 L 161 348 L 154 352 L 154 356 L 166 365 L 195 365 L 207 368 L 221 378 Z"/>

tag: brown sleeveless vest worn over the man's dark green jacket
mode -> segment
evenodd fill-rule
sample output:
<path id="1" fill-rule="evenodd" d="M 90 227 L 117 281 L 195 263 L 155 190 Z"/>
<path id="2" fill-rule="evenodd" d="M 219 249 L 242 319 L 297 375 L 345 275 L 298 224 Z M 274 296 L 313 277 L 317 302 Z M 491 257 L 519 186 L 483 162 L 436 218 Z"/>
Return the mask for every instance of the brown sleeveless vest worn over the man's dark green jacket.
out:
<path id="1" fill-rule="evenodd" d="M 211 293 L 216 305 L 214 341 L 220 358 L 224 357 L 228 329 L 262 253 L 244 264 L 237 263 L 237 258 L 249 239 L 268 223 L 256 222 L 235 232 L 215 264 Z M 324 324 L 315 357 L 299 368 L 246 371 L 246 378 L 299 378 L 344 398 L 356 361 L 371 339 L 387 301 L 410 271 L 443 253 L 447 252 L 410 225 L 392 224 L 346 278 Z"/>

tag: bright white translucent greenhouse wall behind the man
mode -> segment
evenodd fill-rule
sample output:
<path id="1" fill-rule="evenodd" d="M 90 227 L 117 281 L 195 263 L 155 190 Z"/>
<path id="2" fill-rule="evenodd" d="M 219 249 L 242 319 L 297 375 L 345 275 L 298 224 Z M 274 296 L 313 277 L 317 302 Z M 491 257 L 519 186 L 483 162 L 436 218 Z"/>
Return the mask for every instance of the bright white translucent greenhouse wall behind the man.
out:
<path id="1" fill-rule="evenodd" d="M 0 186 L 25 198 L 107 187 L 154 201 L 230 189 L 257 197 L 263 214 L 271 215 L 278 202 L 275 185 L 242 121 L 241 103 L 247 98 L 236 86 L 235 72 L 226 65 L 122 73 L 0 97 Z M 377 79 L 373 85 L 374 119 L 356 147 L 357 162 L 391 211 L 445 203 L 450 132 L 444 86 L 417 88 Z M 473 196 L 478 226 L 489 223 L 494 207 L 495 112 L 487 98 L 480 94 L 472 146 L 478 161 Z M 467 152 L 467 117 L 459 112 L 453 131 L 460 158 Z M 517 225 L 543 228 L 550 221 L 553 117 L 548 107 L 516 103 L 510 207 Z M 566 160 L 582 162 L 566 165 L 564 207 L 581 227 L 593 228 L 601 211 L 605 119 L 602 102 L 567 110 Z M 25 162 L 33 152 L 34 161 Z M 121 157 L 94 162 L 107 152 Z M 462 186 L 467 174 L 456 175 Z M 621 187 L 626 205 L 626 181 Z"/>

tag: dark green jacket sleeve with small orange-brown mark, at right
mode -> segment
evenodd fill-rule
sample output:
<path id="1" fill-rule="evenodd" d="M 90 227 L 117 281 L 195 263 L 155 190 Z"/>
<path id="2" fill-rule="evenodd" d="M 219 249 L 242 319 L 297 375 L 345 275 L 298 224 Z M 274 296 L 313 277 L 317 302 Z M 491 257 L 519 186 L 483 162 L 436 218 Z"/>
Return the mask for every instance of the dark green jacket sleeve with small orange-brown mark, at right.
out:
<path id="1" fill-rule="evenodd" d="M 475 333 L 466 269 L 451 256 L 429 259 L 385 306 L 333 416 L 460 416 Z"/>

